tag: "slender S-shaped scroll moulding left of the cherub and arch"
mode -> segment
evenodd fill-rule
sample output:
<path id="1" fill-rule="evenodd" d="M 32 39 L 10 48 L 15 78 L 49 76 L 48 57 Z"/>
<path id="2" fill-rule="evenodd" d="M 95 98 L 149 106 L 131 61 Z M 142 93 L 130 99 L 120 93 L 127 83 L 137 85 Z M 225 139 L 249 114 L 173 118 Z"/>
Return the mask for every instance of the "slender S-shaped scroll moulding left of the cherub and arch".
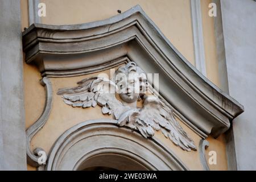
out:
<path id="1" fill-rule="evenodd" d="M 30 148 L 30 142 L 34 135 L 38 133 L 38 131 L 41 130 L 44 124 L 47 122 L 52 105 L 52 86 L 49 78 L 43 77 L 40 83 L 46 88 L 46 104 L 44 106 L 44 111 L 40 118 L 26 130 L 27 163 L 34 167 L 39 167 L 38 159 L 40 156 L 38 156 L 38 154 L 40 151 L 44 150 L 43 148 L 35 148 L 34 152 L 32 152 Z"/>

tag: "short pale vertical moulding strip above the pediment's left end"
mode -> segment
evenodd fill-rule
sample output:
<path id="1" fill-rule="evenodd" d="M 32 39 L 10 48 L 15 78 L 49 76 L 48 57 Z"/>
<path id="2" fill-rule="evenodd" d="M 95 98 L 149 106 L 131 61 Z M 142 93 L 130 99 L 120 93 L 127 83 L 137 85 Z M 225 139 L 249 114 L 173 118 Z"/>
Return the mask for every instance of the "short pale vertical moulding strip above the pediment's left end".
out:
<path id="1" fill-rule="evenodd" d="M 41 18 L 38 16 L 38 5 L 40 0 L 28 0 L 28 20 L 29 24 L 41 23 Z"/>

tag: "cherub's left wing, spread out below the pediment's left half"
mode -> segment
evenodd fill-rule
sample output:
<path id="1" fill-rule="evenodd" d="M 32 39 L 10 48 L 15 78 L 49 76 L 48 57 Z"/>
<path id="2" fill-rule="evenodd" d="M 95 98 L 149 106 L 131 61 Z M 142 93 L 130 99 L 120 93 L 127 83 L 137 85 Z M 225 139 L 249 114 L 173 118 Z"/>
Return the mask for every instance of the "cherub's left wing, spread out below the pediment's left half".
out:
<path id="1" fill-rule="evenodd" d="M 131 109 L 115 98 L 117 86 L 113 81 L 104 77 L 90 77 L 77 82 L 74 88 L 59 89 L 57 94 L 62 95 L 63 101 L 73 107 L 102 107 L 103 114 L 113 114 L 115 119 Z M 110 92 L 112 91 L 112 92 Z"/>

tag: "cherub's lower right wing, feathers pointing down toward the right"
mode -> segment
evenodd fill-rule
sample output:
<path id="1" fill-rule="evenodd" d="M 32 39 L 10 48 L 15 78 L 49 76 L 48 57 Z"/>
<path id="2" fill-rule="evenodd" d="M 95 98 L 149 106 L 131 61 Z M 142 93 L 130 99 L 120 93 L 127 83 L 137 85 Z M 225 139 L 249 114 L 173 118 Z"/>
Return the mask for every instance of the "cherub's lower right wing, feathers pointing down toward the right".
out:
<path id="1" fill-rule="evenodd" d="M 126 111 L 119 118 L 118 125 L 127 125 L 138 130 L 145 138 L 152 137 L 154 130 L 160 130 L 166 138 L 183 150 L 196 150 L 195 143 L 176 121 L 170 107 L 156 97 L 150 99 L 146 96 L 142 109 Z"/>

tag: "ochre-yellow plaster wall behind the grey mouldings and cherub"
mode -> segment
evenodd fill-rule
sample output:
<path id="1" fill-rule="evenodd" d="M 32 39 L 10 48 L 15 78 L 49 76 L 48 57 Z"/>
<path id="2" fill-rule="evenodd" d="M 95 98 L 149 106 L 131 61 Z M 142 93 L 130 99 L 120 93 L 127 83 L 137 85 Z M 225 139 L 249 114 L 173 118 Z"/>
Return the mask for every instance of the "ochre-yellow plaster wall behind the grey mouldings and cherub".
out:
<path id="1" fill-rule="evenodd" d="M 116 15 L 117 10 L 125 11 L 137 4 L 142 6 L 142 9 L 147 15 L 156 23 L 156 25 L 163 31 L 164 35 L 174 44 L 174 46 L 194 64 L 193 57 L 193 38 L 191 26 L 191 10 L 189 0 L 140 0 L 140 1 L 67 1 L 67 0 L 42 0 L 47 5 L 47 16 L 42 18 L 42 23 L 46 24 L 77 24 L 92 22 L 94 20 L 101 20 Z M 27 0 L 21 1 L 22 5 L 22 29 L 28 27 L 28 9 Z M 204 15 L 207 11 L 208 4 L 201 3 L 202 16 L 204 25 L 204 44 L 205 57 L 207 60 L 207 76 L 218 85 L 217 60 L 216 49 L 214 49 L 214 30 L 213 20 Z M 208 11 L 207 11 L 208 13 Z M 168 18 L 167 18 L 168 17 Z M 109 71 L 105 71 L 108 73 Z M 94 73 L 92 75 L 97 75 Z M 97 118 L 112 118 L 109 115 L 101 114 L 100 107 L 96 108 L 72 108 L 65 105 L 60 96 L 56 95 L 57 89 L 69 86 L 76 86 L 76 82 L 82 78 L 90 77 L 92 75 L 69 77 L 69 78 L 51 78 L 53 87 L 53 105 L 51 114 L 46 125 L 42 130 L 35 135 L 31 141 L 31 147 L 42 147 L 49 152 L 55 140 L 67 129 L 76 125 L 76 123 L 86 121 L 88 119 Z M 45 91 L 44 87 L 40 85 L 40 73 L 35 65 L 28 65 L 24 63 L 24 102 L 26 110 L 26 127 L 29 127 L 40 117 L 44 107 Z M 201 139 L 195 134 L 187 125 L 180 121 L 184 130 L 195 141 L 196 146 L 199 145 Z M 162 140 L 166 146 L 170 147 L 179 158 L 191 169 L 203 169 L 200 163 L 199 151 L 183 151 L 175 146 L 170 140 L 156 132 L 156 138 Z M 208 156 L 210 150 L 217 152 L 217 165 L 210 165 L 210 169 L 226 170 L 226 153 L 224 135 L 217 139 L 208 137 L 210 147 L 206 150 L 205 155 Z M 28 170 L 35 170 L 35 168 L 28 166 Z"/>

